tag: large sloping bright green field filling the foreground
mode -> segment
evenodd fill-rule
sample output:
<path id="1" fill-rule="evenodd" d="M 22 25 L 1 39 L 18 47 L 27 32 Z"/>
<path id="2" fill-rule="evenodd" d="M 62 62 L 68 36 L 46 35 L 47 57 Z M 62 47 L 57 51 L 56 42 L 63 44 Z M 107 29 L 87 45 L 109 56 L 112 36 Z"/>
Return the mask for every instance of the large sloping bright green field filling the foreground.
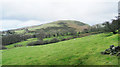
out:
<path id="1" fill-rule="evenodd" d="M 101 55 L 118 45 L 118 35 L 97 34 L 58 43 L 2 51 L 3 65 L 117 65 L 118 57 Z"/>

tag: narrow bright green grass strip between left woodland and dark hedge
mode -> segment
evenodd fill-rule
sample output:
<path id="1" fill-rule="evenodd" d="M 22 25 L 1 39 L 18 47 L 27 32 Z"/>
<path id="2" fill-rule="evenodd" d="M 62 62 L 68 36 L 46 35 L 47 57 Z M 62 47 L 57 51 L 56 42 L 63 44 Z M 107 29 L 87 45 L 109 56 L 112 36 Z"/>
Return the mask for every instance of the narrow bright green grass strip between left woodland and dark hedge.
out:
<path id="1" fill-rule="evenodd" d="M 23 45 L 23 46 L 26 46 L 28 43 L 30 42 L 33 42 L 33 41 L 37 41 L 38 39 L 37 38 L 31 38 L 31 39 L 27 39 L 26 41 L 21 41 L 21 42 L 18 42 L 18 43 L 14 43 L 14 44 L 11 44 L 11 45 L 8 45 L 8 46 L 5 46 L 7 48 L 13 48 L 14 45 Z"/>

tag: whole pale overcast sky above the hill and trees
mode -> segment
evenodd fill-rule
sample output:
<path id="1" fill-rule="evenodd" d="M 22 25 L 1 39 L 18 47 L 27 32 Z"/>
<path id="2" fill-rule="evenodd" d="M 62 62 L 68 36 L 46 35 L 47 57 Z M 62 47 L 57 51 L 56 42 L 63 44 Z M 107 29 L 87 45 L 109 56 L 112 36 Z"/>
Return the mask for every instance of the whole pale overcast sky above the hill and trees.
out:
<path id="1" fill-rule="evenodd" d="M 111 21 L 119 0 L 0 0 L 0 30 L 77 20 L 89 25 Z"/>

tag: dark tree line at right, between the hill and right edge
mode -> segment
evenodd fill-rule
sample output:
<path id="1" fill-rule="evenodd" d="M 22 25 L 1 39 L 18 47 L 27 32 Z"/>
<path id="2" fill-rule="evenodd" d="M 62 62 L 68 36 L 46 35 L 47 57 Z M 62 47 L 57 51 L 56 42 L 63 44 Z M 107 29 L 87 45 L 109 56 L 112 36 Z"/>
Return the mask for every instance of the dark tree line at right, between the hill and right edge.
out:
<path id="1" fill-rule="evenodd" d="M 106 33 L 112 32 L 113 34 L 120 33 L 120 19 L 113 19 L 111 22 L 106 21 L 102 24 L 96 24 L 91 26 L 89 29 L 85 29 L 84 32 L 97 32 L 97 33 Z"/>

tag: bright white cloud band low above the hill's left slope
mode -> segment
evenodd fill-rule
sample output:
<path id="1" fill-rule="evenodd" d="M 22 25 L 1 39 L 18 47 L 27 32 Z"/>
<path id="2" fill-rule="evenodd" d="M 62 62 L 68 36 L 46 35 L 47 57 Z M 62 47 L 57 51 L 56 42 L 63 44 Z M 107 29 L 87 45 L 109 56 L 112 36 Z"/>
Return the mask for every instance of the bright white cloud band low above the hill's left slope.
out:
<path id="1" fill-rule="evenodd" d="M 10 29 L 17 29 L 26 26 L 32 25 L 40 25 L 45 24 L 47 22 L 40 22 L 36 20 L 29 20 L 29 21 L 19 21 L 19 20 L 0 20 L 0 31 L 2 30 L 10 30 Z"/>

